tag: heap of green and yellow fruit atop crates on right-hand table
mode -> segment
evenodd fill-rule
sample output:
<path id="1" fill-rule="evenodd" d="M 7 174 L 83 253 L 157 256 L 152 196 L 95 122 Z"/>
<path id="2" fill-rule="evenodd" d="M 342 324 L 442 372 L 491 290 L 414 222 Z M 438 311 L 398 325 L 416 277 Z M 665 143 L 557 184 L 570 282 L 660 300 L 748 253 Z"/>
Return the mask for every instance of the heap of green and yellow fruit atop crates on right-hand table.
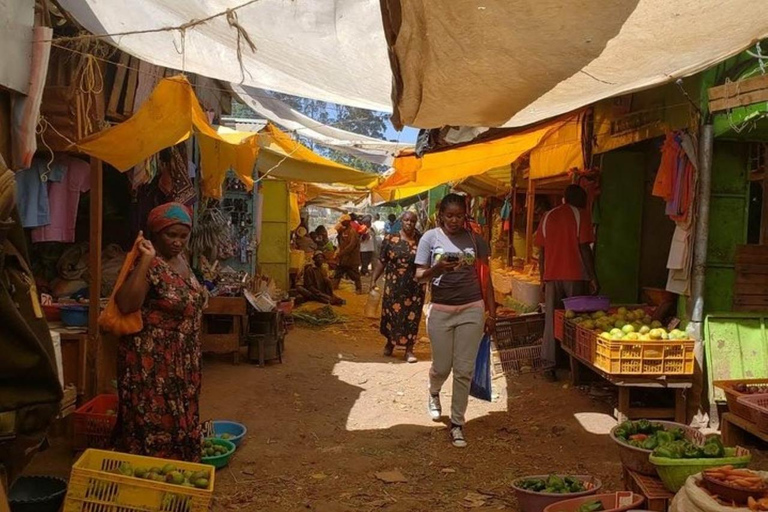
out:
<path id="1" fill-rule="evenodd" d="M 565 318 L 590 331 L 600 333 L 604 340 L 661 341 L 688 340 L 690 337 L 679 329 L 667 331 L 658 320 L 653 320 L 643 309 L 629 311 L 620 307 L 615 312 L 595 311 L 577 315 L 566 310 Z"/>

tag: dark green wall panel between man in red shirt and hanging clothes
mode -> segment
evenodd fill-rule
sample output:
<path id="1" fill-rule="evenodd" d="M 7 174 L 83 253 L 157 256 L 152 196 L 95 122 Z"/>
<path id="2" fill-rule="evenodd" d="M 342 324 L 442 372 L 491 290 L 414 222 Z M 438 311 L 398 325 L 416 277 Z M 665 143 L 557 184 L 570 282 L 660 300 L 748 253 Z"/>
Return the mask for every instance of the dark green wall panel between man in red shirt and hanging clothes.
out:
<path id="1" fill-rule="evenodd" d="M 595 266 L 601 293 L 611 302 L 639 299 L 640 239 L 643 218 L 645 155 L 611 151 L 603 155 Z"/>

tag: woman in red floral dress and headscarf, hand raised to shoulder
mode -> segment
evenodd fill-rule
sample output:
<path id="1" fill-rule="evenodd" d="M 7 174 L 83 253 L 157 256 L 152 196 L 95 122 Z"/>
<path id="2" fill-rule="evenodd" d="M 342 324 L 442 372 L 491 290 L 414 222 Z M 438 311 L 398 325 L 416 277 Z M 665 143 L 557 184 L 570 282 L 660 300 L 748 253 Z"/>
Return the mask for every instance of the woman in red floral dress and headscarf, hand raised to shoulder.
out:
<path id="1" fill-rule="evenodd" d="M 136 266 L 115 301 L 124 314 L 141 311 L 141 332 L 120 339 L 117 448 L 196 462 L 202 431 L 200 321 L 206 293 L 184 251 L 192 219 L 185 206 L 152 210 L 141 237 Z"/>

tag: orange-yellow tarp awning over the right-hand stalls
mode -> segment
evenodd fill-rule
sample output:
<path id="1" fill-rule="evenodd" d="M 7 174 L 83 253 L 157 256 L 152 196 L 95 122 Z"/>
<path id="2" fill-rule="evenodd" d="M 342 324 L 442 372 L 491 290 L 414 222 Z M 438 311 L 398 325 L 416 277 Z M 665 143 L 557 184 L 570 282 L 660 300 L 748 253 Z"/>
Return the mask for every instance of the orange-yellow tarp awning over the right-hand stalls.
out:
<path id="1" fill-rule="evenodd" d="M 506 137 L 427 153 L 422 158 L 397 157 L 395 172 L 375 191 L 385 200 L 395 201 L 485 173 L 509 184 L 510 164 L 528 153 L 534 179 L 583 168 L 583 115 L 578 112 Z"/>

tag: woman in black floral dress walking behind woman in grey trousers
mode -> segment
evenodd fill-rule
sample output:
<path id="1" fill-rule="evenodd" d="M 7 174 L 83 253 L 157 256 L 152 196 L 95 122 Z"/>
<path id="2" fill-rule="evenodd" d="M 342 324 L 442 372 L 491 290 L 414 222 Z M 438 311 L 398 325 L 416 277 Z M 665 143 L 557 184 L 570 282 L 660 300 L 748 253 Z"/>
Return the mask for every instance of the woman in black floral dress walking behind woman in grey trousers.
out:
<path id="1" fill-rule="evenodd" d="M 399 233 L 384 237 L 373 272 L 371 289 L 384 274 L 381 306 L 381 334 L 387 338 L 384 355 L 391 356 L 395 346 L 405 347 L 405 360 L 415 363 L 413 345 L 419 333 L 424 306 L 424 285 L 416 281 L 416 248 L 421 234 L 416 231 L 416 214 L 405 212 Z"/>

